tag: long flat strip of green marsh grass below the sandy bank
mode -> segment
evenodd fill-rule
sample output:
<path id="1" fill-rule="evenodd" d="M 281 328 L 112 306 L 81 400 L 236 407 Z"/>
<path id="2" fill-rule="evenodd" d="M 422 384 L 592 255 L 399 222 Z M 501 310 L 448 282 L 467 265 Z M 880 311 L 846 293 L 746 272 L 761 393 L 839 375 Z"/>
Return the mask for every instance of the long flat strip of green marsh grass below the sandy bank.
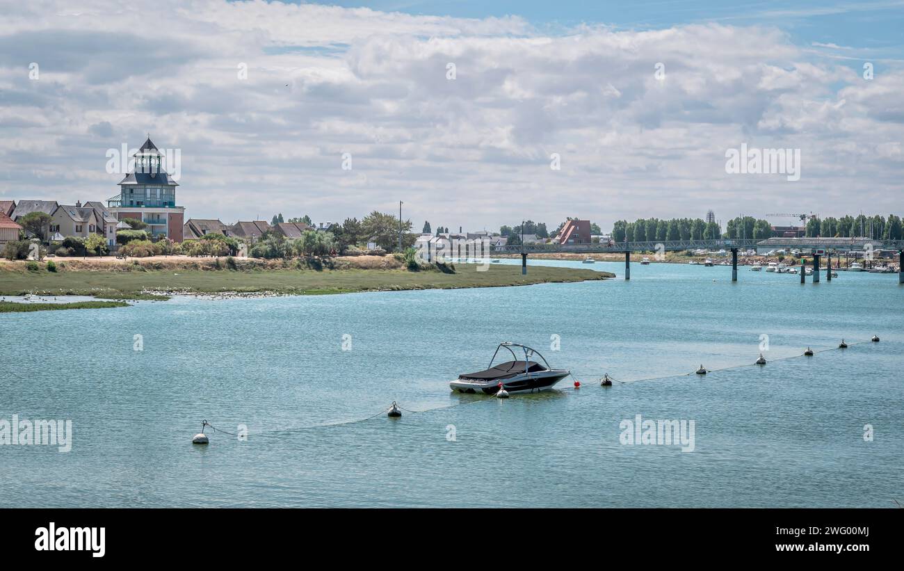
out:
<path id="1" fill-rule="evenodd" d="M 0 271 L 0 295 L 94 295 L 105 299 L 148 299 L 147 291 L 216 294 L 223 292 L 287 295 L 344 294 L 363 291 L 527 286 L 549 282 L 598 280 L 612 274 L 584 268 L 460 264 L 455 274 L 406 269 L 149 270 L 19 273 Z"/>

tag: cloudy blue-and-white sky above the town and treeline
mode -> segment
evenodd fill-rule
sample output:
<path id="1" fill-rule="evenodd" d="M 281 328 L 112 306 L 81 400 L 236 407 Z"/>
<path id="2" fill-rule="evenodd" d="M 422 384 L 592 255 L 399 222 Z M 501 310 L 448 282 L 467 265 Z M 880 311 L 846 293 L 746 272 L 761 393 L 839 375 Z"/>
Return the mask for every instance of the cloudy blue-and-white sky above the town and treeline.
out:
<path id="1" fill-rule="evenodd" d="M 0 200 L 106 201 L 109 151 L 150 134 L 186 217 L 226 223 L 904 213 L 904 1 L 0 13 Z M 742 145 L 799 152 L 799 178 L 727 172 Z"/>

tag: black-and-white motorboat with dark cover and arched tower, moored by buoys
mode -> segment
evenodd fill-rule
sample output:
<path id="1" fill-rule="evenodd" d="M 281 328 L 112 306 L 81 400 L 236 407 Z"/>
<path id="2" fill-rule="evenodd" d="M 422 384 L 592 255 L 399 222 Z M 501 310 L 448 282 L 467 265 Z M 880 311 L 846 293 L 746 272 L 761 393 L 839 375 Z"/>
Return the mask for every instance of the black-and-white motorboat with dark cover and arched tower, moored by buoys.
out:
<path id="1" fill-rule="evenodd" d="M 494 365 L 496 357 L 503 350 L 511 353 L 513 360 Z M 533 360 L 534 358 L 539 360 Z M 496 347 L 493 359 L 485 370 L 458 375 L 458 379 L 449 382 L 449 388 L 461 393 L 485 395 L 494 395 L 500 388 L 512 394 L 539 392 L 552 388 L 569 375 L 570 370 L 551 369 L 550 364 L 538 351 L 519 343 L 504 342 Z"/>

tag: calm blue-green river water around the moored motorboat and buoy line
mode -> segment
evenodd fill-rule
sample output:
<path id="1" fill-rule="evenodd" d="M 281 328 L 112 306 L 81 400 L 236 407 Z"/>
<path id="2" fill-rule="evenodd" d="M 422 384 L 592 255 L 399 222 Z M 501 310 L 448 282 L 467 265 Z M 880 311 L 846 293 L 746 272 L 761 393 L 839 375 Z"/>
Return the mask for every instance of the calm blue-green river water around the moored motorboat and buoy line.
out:
<path id="1" fill-rule="evenodd" d="M 622 264 L 592 267 L 619 277 L 0 315 L 0 418 L 70 418 L 74 432 L 69 454 L 0 446 L 0 506 L 904 502 L 897 276 L 800 286 L 741 268 L 732 284 L 730 267 L 634 264 L 625 282 Z M 761 334 L 764 368 L 749 365 Z M 850 349 L 798 357 L 842 337 Z M 447 381 L 485 368 L 502 341 L 584 387 L 451 394 Z M 717 371 L 685 375 L 701 363 Z M 600 388 L 606 371 L 628 382 Z M 426 412 L 362 421 L 392 400 Z M 695 450 L 621 445 L 619 423 L 637 414 L 693 420 Z M 247 425 L 249 441 L 193 446 L 202 418 Z"/>

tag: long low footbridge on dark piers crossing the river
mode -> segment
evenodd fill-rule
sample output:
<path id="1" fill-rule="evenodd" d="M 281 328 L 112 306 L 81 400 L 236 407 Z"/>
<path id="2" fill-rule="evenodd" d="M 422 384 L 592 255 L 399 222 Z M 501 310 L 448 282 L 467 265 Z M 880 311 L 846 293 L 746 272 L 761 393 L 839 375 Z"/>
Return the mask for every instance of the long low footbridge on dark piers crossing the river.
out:
<path id="1" fill-rule="evenodd" d="M 522 273 L 527 273 L 529 254 L 625 254 L 625 279 L 631 279 L 631 254 L 637 252 L 666 252 L 678 250 L 730 250 L 731 281 L 738 281 L 738 250 L 751 248 L 799 249 L 813 256 L 813 281 L 819 282 L 820 258 L 827 256 L 826 279 L 832 281 L 832 256 L 841 253 L 869 252 L 873 250 L 896 250 L 898 252 L 898 281 L 904 284 L 904 240 L 873 240 L 867 238 L 770 238 L 758 239 L 709 239 L 709 240 L 665 240 L 644 242 L 614 242 L 609 240 L 598 244 L 518 244 L 491 248 L 496 254 L 521 254 Z M 805 272 L 800 273 L 800 282 L 805 282 Z"/>

